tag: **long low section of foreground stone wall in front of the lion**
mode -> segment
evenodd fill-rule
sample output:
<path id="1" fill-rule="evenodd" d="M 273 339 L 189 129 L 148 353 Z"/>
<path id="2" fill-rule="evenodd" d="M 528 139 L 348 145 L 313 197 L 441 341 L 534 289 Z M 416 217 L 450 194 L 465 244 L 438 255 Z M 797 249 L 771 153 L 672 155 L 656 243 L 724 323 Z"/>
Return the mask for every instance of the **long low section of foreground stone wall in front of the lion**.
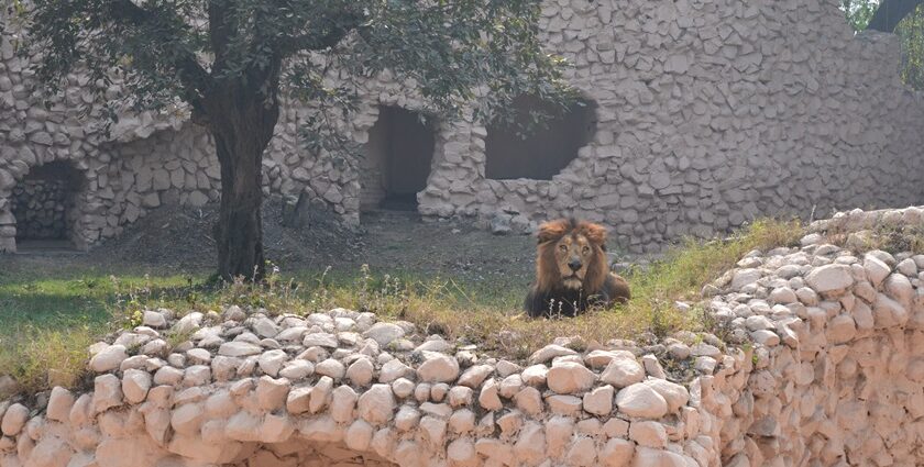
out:
<path id="1" fill-rule="evenodd" d="M 169 335 L 190 338 L 170 348 Z M 743 353 L 679 340 L 566 345 L 515 363 L 343 309 L 147 310 L 143 325 L 92 346 L 92 391 L 0 404 L 0 466 L 253 466 L 271 454 L 402 466 L 718 459 L 703 377 L 740 370 Z M 654 353 L 701 376 L 673 382 Z"/>

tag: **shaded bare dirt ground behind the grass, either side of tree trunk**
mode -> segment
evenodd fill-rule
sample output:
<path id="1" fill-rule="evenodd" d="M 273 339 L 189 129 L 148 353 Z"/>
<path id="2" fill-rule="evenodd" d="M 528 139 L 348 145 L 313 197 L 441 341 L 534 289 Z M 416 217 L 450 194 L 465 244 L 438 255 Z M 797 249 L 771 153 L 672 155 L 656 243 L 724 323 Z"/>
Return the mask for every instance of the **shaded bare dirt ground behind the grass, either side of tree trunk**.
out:
<path id="1" fill-rule="evenodd" d="M 129 226 L 119 237 L 87 253 L 24 252 L 0 256 L 0 269 L 26 276 L 94 269 L 182 274 L 210 273 L 216 260 L 212 225 L 217 205 L 161 208 Z M 355 274 L 363 264 L 373 273 L 440 275 L 466 280 L 527 283 L 532 276 L 535 241 L 528 235 L 492 235 L 463 221 L 425 222 L 415 212 L 363 213 L 349 229 L 332 216 L 312 216 L 311 225 L 283 225 L 282 204 L 264 207 L 266 256 L 283 271 Z"/>

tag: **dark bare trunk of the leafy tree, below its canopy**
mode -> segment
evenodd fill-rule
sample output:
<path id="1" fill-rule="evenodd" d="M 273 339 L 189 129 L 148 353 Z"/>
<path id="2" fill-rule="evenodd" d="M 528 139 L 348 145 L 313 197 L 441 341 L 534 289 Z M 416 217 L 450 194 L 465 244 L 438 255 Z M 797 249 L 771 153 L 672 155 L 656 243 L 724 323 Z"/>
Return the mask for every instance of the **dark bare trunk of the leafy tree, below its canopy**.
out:
<path id="1" fill-rule="evenodd" d="M 262 162 L 279 118 L 279 104 L 275 93 L 267 98 L 260 92 L 260 84 L 257 79 L 223 84 L 206 103 L 221 166 L 221 208 L 215 234 L 218 274 L 226 280 L 242 276 L 258 281 L 265 273 Z"/>

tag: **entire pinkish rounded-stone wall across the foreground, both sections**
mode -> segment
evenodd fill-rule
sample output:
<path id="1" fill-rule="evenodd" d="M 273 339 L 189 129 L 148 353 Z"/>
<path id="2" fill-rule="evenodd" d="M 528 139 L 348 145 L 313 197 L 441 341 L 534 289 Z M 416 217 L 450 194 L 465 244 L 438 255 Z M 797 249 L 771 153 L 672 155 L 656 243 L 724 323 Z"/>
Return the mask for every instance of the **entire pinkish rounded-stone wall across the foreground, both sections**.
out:
<path id="1" fill-rule="evenodd" d="M 516 362 L 343 309 L 148 310 L 92 346 L 91 392 L 0 403 L 0 466 L 919 465 L 924 255 L 826 243 L 876 222 L 924 232 L 924 207 L 747 254 L 703 290 L 724 341 Z"/>

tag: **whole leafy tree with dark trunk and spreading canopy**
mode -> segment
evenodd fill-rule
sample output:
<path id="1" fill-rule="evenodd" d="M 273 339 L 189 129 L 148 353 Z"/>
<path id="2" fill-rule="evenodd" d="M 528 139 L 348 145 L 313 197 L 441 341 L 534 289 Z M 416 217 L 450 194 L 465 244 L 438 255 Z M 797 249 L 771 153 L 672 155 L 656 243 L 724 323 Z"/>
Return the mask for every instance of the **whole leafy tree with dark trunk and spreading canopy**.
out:
<path id="1" fill-rule="evenodd" d="M 19 0 L 16 0 L 19 1 Z M 120 105 L 178 101 L 211 133 L 221 166 L 218 273 L 262 277 L 261 162 L 289 92 L 349 110 L 348 84 L 387 69 L 433 112 L 476 118 L 531 92 L 566 102 L 562 62 L 541 49 L 539 0 L 33 0 L 18 4 L 25 53 L 51 92 L 76 69 L 121 80 Z M 105 88 L 105 87 L 103 87 Z M 102 92 L 102 89 L 100 90 Z M 324 112 L 308 133 L 330 136 Z"/>

